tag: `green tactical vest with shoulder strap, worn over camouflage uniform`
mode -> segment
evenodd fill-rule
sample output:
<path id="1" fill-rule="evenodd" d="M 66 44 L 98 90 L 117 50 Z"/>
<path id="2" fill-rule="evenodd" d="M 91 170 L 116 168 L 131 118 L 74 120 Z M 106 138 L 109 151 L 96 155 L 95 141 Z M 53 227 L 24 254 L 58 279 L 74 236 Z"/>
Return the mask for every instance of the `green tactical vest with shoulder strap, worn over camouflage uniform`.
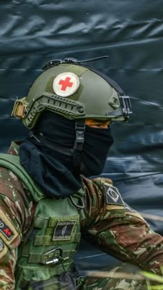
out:
<path id="1" fill-rule="evenodd" d="M 70 199 L 48 199 L 21 166 L 18 156 L 0 154 L 0 166 L 15 173 L 37 202 L 32 231 L 18 249 L 15 289 L 28 289 L 30 281 L 48 281 L 70 271 L 81 235 L 77 204 L 84 191 Z"/>

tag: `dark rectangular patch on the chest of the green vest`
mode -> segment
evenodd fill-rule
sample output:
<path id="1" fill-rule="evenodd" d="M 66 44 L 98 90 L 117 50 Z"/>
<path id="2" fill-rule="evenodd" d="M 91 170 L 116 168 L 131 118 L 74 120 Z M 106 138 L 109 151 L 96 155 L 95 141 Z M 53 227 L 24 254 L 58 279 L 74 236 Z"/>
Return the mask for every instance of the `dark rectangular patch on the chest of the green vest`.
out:
<path id="1" fill-rule="evenodd" d="M 57 222 L 52 240 L 70 240 L 76 221 Z"/>

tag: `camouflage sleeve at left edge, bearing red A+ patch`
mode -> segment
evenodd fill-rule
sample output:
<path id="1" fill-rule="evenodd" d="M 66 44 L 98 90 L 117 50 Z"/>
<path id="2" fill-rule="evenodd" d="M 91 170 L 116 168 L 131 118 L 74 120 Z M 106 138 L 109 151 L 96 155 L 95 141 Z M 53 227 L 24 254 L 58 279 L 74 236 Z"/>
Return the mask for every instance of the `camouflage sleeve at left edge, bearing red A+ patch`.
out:
<path id="1" fill-rule="evenodd" d="M 0 289 L 15 289 L 17 247 L 32 219 L 33 204 L 20 180 L 0 168 Z"/>

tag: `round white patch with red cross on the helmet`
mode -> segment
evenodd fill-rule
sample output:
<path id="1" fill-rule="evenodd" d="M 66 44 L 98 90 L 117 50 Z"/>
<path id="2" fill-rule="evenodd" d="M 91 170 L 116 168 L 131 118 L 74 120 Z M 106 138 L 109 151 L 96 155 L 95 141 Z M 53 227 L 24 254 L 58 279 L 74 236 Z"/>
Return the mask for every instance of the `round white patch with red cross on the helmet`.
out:
<path id="1" fill-rule="evenodd" d="M 55 77 L 52 88 L 56 95 L 68 97 L 77 91 L 79 84 L 79 77 L 75 73 L 63 72 Z"/>

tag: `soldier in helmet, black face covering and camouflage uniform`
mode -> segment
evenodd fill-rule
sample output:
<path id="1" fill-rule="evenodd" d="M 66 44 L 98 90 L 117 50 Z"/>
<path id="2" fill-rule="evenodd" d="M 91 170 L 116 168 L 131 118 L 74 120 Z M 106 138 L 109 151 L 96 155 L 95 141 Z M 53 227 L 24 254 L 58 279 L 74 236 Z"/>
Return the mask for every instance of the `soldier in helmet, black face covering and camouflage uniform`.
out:
<path id="1" fill-rule="evenodd" d="M 73 259 L 81 235 L 135 264 L 113 272 L 160 273 L 163 238 L 111 180 L 88 179 L 104 168 L 109 125 L 130 113 L 112 79 L 75 59 L 50 61 L 28 97 L 15 101 L 12 116 L 30 134 L 0 156 L 1 289 L 143 289 L 139 280 L 79 277 Z"/>

